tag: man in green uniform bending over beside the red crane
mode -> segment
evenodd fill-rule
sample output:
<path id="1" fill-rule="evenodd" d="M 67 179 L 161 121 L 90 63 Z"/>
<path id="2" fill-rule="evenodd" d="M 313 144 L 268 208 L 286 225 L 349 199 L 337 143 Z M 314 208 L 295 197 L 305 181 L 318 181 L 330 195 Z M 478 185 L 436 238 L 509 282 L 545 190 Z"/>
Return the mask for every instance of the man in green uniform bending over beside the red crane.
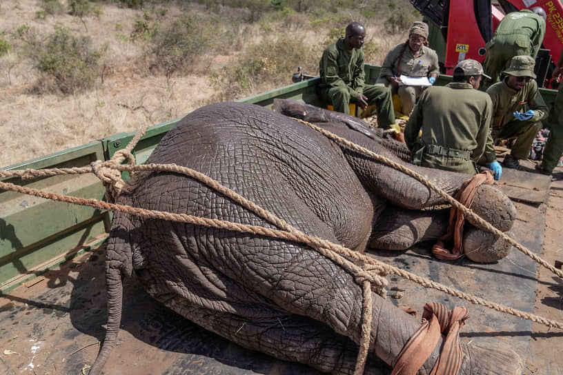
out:
<path id="1" fill-rule="evenodd" d="M 483 67 L 485 73 L 491 76 L 491 82 L 486 82 L 487 85 L 499 81 L 500 72 L 508 68 L 513 57 L 527 54 L 535 60 L 544 40 L 545 19 L 546 14 L 540 7 L 504 16 L 495 30 L 495 36 L 485 45 L 488 51 Z"/>

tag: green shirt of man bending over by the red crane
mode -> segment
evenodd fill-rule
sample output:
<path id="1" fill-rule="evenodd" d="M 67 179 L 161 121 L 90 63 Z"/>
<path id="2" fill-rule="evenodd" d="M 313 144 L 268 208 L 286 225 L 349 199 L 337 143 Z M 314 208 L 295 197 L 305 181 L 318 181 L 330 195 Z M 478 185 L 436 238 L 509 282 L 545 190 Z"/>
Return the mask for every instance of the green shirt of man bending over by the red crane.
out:
<path id="1" fill-rule="evenodd" d="M 504 39 L 509 39 L 522 49 L 531 48 L 531 57 L 535 59 L 544 40 L 545 28 L 544 19 L 529 9 L 511 12 L 500 21 L 493 39 L 485 47 L 490 48 L 492 43 L 504 43 Z"/>

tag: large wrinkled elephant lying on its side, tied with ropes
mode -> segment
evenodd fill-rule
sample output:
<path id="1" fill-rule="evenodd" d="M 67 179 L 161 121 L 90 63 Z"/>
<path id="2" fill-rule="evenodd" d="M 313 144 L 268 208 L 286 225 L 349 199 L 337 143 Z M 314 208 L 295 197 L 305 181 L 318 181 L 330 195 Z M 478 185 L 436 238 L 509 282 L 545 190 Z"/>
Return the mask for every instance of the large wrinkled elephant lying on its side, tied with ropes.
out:
<path id="1" fill-rule="evenodd" d="M 295 103 L 277 102 L 278 110 L 284 107 L 299 112 Z M 320 113 L 313 112 L 303 106 L 300 113 L 308 119 Z M 395 161 L 401 161 L 395 155 L 408 156 L 404 146 L 380 132 L 353 130 L 342 118 L 319 116 L 338 120 L 320 125 L 370 150 Z M 358 124 L 363 126 L 351 127 Z M 147 163 L 195 169 L 298 230 L 357 251 L 406 248 L 435 239 L 446 226 L 446 212 L 421 211 L 443 203 L 421 183 L 257 105 L 218 103 L 195 110 L 166 134 Z M 467 178 L 415 169 L 450 194 Z M 130 183 L 135 188 L 121 194 L 118 203 L 273 228 L 180 174 L 139 173 Z M 501 230 L 510 229 L 515 210 L 506 196 L 491 185 L 482 185 L 477 194 L 477 212 Z M 495 206 L 486 206 L 491 203 Z M 90 374 L 101 371 L 115 344 L 121 280 L 133 271 L 158 301 L 239 345 L 323 372 L 354 370 L 362 290 L 333 261 L 291 241 L 117 213 L 106 255 L 106 341 Z M 376 294 L 372 300 L 369 356 L 391 364 L 419 321 Z M 431 371 L 441 342 L 419 374 Z M 462 374 L 516 374 L 520 369 L 514 352 L 462 348 Z M 376 373 L 368 364 L 366 374 Z"/>

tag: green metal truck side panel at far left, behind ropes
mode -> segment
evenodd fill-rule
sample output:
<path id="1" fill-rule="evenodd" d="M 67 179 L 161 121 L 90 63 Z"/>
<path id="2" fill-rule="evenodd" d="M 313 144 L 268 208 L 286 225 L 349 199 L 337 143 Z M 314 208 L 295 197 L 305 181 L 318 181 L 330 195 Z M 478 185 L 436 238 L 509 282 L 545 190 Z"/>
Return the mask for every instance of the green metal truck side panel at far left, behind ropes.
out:
<path id="1" fill-rule="evenodd" d="M 103 160 L 99 141 L 3 169 L 82 167 L 95 160 Z M 105 192 L 92 174 L 3 181 L 81 198 L 103 199 Z M 0 191 L 0 290 L 44 272 L 55 259 L 69 259 L 107 234 L 109 222 L 108 212 L 91 207 Z"/>

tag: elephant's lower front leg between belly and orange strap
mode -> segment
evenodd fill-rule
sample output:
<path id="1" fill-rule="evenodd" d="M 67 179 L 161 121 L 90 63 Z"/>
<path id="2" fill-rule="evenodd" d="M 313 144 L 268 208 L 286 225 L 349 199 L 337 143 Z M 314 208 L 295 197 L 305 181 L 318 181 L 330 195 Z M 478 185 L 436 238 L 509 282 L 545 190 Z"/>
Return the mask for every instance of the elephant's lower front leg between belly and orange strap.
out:
<path id="1" fill-rule="evenodd" d="M 406 250 L 421 241 L 439 239 L 448 229 L 449 209 L 415 211 L 389 206 L 373 223 L 368 248 Z"/>

